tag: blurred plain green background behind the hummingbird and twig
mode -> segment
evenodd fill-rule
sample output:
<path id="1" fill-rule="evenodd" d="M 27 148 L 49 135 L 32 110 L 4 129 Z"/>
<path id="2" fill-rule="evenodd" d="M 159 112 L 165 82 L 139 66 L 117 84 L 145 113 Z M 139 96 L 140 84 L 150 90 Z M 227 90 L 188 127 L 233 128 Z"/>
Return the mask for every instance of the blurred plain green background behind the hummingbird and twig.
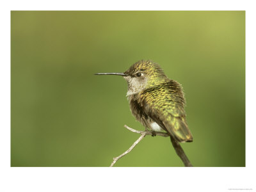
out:
<path id="1" fill-rule="evenodd" d="M 140 136 L 127 84 L 138 60 L 184 87 L 194 166 L 245 166 L 245 12 L 11 12 L 11 166 L 109 166 Z M 147 136 L 115 166 L 183 166 Z"/>

